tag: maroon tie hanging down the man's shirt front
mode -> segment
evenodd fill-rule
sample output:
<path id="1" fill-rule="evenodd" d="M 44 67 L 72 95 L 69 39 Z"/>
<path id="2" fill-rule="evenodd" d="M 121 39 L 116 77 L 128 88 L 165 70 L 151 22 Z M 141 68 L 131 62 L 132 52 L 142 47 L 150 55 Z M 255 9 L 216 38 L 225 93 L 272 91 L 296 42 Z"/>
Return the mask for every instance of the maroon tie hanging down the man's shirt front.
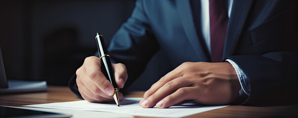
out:
<path id="1" fill-rule="evenodd" d="M 221 62 L 229 21 L 225 0 L 209 0 L 209 10 L 211 60 L 212 62 Z"/>

